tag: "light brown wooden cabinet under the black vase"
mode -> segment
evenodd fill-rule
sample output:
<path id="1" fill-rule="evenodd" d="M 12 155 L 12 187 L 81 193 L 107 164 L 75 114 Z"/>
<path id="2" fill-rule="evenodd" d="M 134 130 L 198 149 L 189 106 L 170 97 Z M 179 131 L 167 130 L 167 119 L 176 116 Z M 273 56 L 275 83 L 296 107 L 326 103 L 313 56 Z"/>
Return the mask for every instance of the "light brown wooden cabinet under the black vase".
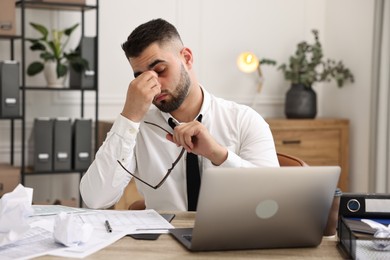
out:
<path id="1" fill-rule="evenodd" d="M 349 185 L 349 121 L 346 119 L 266 119 L 276 150 L 301 158 L 311 166 L 339 165 L 338 187 Z"/>

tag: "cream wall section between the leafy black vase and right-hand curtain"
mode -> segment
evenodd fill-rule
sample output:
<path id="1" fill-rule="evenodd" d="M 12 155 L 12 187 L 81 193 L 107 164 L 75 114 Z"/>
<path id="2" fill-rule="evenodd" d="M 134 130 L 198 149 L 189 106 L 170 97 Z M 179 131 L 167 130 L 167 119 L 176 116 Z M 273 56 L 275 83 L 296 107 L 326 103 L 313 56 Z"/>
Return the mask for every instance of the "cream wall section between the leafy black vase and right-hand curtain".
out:
<path id="1" fill-rule="evenodd" d="M 355 83 L 324 86 L 323 113 L 350 120 L 350 186 L 367 191 L 369 180 L 371 66 L 374 0 L 326 1 L 327 54 L 345 61 Z M 328 84 L 329 85 L 329 84 Z"/>

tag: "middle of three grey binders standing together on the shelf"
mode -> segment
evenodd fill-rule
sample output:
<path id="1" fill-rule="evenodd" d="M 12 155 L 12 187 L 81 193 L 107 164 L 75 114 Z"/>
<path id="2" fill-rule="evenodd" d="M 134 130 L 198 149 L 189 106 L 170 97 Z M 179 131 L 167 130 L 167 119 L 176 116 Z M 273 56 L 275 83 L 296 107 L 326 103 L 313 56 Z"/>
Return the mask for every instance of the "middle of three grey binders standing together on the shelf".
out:
<path id="1" fill-rule="evenodd" d="M 55 171 L 68 171 L 72 168 L 72 121 L 69 118 L 54 120 L 54 156 Z"/>

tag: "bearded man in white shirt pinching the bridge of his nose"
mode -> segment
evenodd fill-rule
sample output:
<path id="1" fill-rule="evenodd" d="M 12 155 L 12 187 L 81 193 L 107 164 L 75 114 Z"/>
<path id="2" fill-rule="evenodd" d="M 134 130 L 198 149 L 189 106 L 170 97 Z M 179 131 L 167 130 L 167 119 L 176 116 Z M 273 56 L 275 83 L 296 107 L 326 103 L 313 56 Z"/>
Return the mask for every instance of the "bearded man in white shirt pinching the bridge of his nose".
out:
<path id="1" fill-rule="evenodd" d="M 187 194 L 187 188 L 201 177 L 187 177 L 187 168 L 199 166 L 201 175 L 209 167 L 279 166 L 268 124 L 253 109 L 216 98 L 199 85 L 192 52 L 173 25 L 162 19 L 142 24 L 122 48 L 135 79 L 81 180 L 88 207 L 112 206 L 135 176 L 147 208 L 196 210 L 197 191 Z M 199 162 L 186 166 L 194 155 Z"/>

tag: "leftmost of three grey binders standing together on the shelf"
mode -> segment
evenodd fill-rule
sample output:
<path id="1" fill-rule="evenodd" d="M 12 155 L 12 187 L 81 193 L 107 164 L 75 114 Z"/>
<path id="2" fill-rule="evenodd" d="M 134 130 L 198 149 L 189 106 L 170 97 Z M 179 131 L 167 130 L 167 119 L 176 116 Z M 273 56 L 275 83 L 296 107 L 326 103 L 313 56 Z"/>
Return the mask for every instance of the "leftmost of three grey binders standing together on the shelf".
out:
<path id="1" fill-rule="evenodd" d="M 36 118 L 34 120 L 34 170 L 49 172 L 53 170 L 53 120 Z"/>

